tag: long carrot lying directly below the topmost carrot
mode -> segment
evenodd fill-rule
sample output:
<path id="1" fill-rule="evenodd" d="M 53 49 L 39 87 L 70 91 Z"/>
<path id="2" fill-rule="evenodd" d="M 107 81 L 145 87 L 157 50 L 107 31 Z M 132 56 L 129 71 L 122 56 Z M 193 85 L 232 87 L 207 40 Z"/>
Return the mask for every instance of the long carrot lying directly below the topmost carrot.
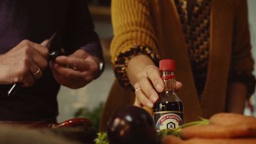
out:
<path id="1" fill-rule="evenodd" d="M 256 127 L 251 125 L 193 125 L 186 127 L 180 132 L 180 138 L 241 138 L 256 137 Z"/>

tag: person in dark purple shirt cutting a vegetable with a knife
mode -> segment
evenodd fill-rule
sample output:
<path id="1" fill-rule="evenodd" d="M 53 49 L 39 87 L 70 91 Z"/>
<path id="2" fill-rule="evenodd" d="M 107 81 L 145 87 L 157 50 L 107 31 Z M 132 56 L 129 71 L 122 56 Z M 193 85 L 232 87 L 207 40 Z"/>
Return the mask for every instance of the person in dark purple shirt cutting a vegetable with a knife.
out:
<path id="1" fill-rule="evenodd" d="M 65 56 L 49 63 L 55 32 L 51 51 Z M 86 0 L 0 0 L 0 121 L 56 122 L 60 85 L 86 86 L 102 61 Z M 22 87 L 8 97 L 14 83 Z"/>

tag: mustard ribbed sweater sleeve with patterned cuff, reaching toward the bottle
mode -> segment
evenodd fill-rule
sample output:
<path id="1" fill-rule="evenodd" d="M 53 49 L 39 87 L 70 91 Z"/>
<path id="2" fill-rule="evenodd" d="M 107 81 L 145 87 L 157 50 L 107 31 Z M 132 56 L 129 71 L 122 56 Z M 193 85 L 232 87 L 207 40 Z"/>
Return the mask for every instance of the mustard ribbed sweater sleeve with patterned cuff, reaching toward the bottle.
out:
<path id="1" fill-rule="evenodd" d="M 127 63 L 132 56 L 145 54 L 156 61 L 158 55 L 150 3 L 148 0 L 112 0 L 111 13 L 114 30 L 111 60 L 115 75 L 122 86 L 131 87 L 124 79 L 129 82 Z"/>

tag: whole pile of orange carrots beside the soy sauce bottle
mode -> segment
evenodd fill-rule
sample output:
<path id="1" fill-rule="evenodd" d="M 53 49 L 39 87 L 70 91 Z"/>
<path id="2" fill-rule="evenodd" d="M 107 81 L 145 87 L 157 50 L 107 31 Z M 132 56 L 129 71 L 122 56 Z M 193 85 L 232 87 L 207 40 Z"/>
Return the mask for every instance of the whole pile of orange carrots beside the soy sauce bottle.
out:
<path id="1" fill-rule="evenodd" d="M 256 144 L 256 118 L 218 113 L 208 125 L 192 125 L 179 132 L 179 138 L 164 136 L 163 144 Z"/>

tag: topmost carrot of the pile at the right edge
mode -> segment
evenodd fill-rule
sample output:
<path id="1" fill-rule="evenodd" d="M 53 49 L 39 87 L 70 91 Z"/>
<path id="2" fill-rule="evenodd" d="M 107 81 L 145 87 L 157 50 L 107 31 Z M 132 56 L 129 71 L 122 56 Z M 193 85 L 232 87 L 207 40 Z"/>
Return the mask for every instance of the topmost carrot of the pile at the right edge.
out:
<path id="1" fill-rule="evenodd" d="M 244 116 L 235 113 L 218 113 L 211 116 L 209 122 L 214 125 L 256 125 L 256 118 L 253 116 Z"/>

